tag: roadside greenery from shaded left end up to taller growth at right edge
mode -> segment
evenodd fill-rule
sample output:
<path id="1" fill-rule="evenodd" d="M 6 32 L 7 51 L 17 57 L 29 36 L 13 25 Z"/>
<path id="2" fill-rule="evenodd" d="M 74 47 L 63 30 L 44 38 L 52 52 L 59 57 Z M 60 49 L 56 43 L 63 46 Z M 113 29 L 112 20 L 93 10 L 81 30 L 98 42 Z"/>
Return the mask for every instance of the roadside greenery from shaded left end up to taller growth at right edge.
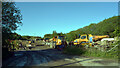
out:
<path id="1" fill-rule="evenodd" d="M 64 49 L 63 53 L 71 54 L 71 55 L 82 55 L 87 57 L 101 57 L 101 58 L 108 58 L 108 59 L 118 59 L 119 57 L 119 45 L 120 39 L 118 39 L 115 43 L 109 44 L 110 48 L 106 48 L 104 51 L 100 50 L 96 47 L 77 47 L 77 46 L 69 46 Z M 115 48 L 114 48 L 115 47 Z M 104 48 L 104 47 L 103 47 Z M 112 49 L 113 48 L 113 49 Z"/>

